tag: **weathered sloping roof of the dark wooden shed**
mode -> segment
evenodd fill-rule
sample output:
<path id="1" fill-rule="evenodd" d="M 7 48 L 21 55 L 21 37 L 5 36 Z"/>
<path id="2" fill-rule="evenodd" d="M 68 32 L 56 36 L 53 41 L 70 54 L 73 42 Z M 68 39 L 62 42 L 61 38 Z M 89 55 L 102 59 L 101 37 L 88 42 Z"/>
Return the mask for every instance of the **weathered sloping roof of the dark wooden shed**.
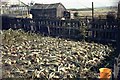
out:
<path id="1" fill-rule="evenodd" d="M 61 3 L 55 3 L 55 4 L 38 4 L 38 3 L 35 3 L 32 6 L 31 9 L 53 9 L 53 8 L 57 8 L 59 5 L 62 5 L 62 4 Z"/>

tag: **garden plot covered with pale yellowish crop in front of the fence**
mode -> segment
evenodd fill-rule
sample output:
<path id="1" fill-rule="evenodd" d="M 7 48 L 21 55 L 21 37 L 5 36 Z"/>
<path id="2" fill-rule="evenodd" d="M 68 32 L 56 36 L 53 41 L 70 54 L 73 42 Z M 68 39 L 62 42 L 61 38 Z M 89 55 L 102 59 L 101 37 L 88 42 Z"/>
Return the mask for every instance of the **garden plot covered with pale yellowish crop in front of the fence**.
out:
<path id="1" fill-rule="evenodd" d="M 97 78 L 108 45 L 51 38 L 22 30 L 2 31 L 3 78 Z"/>

